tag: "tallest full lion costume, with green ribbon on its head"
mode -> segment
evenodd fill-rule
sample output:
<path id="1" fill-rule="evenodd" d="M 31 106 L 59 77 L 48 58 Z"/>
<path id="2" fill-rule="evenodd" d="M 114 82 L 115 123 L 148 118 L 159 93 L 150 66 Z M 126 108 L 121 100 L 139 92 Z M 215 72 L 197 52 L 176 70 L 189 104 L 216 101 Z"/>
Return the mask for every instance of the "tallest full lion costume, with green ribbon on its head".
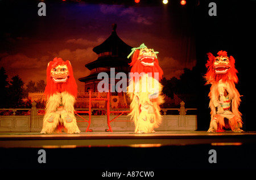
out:
<path id="1" fill-rule="evenodd" d="M 133 54 L 130 66 L 130 80 L 127 94 L 130 96 L 130 116 L 135 124 L 135 133 L 152 133 L 162 122 L 159 105 L 163 103 L 162 79 L 154 49 L 148 49 L 142 44 L 131 49 Z"/>

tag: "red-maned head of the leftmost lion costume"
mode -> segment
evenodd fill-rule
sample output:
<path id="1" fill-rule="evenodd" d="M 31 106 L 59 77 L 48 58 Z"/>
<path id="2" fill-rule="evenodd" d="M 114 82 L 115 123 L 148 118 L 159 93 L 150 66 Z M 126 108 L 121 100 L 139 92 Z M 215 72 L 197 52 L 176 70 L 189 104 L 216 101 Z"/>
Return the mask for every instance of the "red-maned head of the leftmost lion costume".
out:
<path id="1" fill-rule="evenodd" d="M 48 63 L 47 67 L 47 85 L 44 91 L 46 97 L 56 92 L 68 92 L 71 95 L 77 95 L 77 84 L 73 76 L 71 63 L 63 61 L 61 58 L 54 58 Z"/>

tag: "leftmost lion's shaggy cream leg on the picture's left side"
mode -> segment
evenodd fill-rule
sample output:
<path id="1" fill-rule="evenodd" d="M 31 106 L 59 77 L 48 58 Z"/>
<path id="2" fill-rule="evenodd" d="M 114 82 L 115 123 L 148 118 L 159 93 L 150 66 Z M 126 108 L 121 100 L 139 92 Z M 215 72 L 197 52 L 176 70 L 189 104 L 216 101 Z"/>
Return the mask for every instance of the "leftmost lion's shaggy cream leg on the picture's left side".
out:
<path id="1" fill-rule="evenodd" d="M 60 114 L 58 114 L 58 113 L 46 114 L 43 119 L 43 128 L 42 128 L 41 133 L 42 134 L 46 134 L 46 133 L 51 134 L 52 132 L 54 132 L 57 125 L 59 124 L 59 118 L 60 118 Z"/>

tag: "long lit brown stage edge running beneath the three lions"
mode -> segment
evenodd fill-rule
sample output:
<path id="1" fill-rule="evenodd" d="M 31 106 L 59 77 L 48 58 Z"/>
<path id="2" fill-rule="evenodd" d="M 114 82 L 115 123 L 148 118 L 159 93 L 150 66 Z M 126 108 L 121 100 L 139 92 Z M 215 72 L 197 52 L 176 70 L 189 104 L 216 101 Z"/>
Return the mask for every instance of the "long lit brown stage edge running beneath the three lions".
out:
<path id="1" fill-rule="evenodd" d="M 40 134 L 0 132 L 0 148 L 160 147 L 167 145 L 256 145 L 256 132 L 160 131 Z"/>

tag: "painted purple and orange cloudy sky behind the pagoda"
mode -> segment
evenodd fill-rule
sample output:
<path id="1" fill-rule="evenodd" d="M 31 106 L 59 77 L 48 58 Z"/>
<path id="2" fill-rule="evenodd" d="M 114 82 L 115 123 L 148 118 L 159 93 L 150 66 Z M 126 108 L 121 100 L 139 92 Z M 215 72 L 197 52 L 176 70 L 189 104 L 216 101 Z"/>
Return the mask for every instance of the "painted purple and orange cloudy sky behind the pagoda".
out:
<path id="1" fill-rule="evenodd" d="M 46 16 L 38 16 L 39 2 L 0 1 L 0 63 L 9 79 L 18 74 L 25 83 L 46 80 L 48 62 L 61 57 L 71 61 L 79 91 L 84 91 L 78 79 L 89 75 L 84 65 L 97 59 L 92 49 L 111 35 L 113 23 L 126 44 L 144 42 L 160 52 L 167 79 L 196 65 L 193 13 L 179 1 L 43 1 Z"/>

